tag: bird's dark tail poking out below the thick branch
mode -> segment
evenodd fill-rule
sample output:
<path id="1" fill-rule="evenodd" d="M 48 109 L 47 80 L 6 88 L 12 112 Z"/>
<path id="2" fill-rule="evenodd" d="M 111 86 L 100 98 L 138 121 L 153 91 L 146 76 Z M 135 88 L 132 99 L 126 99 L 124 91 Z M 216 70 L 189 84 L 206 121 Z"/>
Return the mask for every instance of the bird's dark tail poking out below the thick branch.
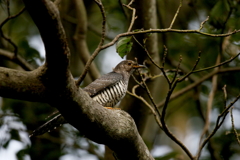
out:
<path id="1" fill-rule="evenodd" d="M 64 117 L 61 114 L 57 114 L 55 117 L 38 127 L 36 130 L 32 132 L 29 137 L 42 135 L 46 132 L 51 132 L 52 130 L 56 129 L 57 127 L 67 123 Z"/>

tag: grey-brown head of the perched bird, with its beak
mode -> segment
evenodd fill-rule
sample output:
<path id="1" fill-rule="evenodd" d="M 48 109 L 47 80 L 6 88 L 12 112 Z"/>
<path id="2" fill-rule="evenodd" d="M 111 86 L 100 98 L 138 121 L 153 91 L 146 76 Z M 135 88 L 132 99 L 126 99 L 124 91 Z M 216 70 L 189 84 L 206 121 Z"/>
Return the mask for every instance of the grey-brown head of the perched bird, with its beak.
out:
<path id="1" fill-rule="evenodd" d="M 120 62 L 114 69 L 114 72 L 117 73 L 129 73 L 130 75 L 133 73 L 133 71 L 137 68 L 145 68 L 143 65 L 139 65 L 134 61 L 131 60 L 124 60 Z"/>

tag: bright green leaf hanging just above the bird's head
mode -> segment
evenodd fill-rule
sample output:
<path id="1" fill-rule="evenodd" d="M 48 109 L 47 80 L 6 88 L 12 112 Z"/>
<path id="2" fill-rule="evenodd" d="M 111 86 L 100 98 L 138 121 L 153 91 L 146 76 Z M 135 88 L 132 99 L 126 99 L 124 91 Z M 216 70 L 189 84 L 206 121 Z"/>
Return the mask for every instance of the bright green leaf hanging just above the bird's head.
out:
<path id="1" fill-rule="evenodd" d="M 123 37 L 118 41 L 116 45 L 116 49 L 120 57 L 123 58 L 125 55 L 127 55 L 131 51 L 132 45 L 133 45 L 133 42 L 131 42 L 131 39 L 132 37 Z"/>

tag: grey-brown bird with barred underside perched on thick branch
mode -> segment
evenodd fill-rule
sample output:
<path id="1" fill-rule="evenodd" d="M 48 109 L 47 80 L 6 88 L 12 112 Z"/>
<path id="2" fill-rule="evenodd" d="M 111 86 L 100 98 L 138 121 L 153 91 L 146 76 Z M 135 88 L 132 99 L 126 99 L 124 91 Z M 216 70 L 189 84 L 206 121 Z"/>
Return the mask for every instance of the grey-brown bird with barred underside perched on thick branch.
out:
<path id="1" fill-rule="evenodd" d="M 103 107 L 113 109 L 112 107 L 114 107 L 125 96 L 130 76 L 137 68 L 145 68 L 145 66 L 139 65 L 132 60 L 121 61 L 112 72 L 97 78 L 83 88 L 83 90 Z M 59 112 L 57 112 L 56 116 L 34 130 L 29 137 L 50 132 L 64 123 L 67 123 L 67 121 Z"/>

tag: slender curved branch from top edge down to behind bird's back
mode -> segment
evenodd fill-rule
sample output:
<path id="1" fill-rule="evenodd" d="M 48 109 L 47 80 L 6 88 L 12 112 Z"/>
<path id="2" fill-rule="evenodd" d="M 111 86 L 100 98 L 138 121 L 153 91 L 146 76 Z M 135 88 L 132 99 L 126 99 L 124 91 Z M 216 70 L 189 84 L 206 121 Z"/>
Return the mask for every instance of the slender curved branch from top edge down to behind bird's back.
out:
<path id="1" fill-rule="evenodd" d="M 91 55 L 91 57 L 87 61 L 83 73 L 81 74 L 79 79 L 76 81 L 76 85 L 77 86 L 79 86 L 81 84 L 81 82 L 83 81 L 83 79 L 85 78 L 92 61 L 95 59 L 95 57 L 98 55 L 98 53 L 102 50 L 102 46 L 103 46 L 104 40 L 105 40 L 105 32 L 106 32 L 106 14 L 105 14 L 105 10 L 104 10 L 104 7 L 102 5 L 101 0 L 95 0 L 95 2 L 97 3 L 97 5 L 100 8 L 101 14 L 102 14 L 102 18 L 103 18 L 103 20 L 102 20 L 102 36 L 101 36 L 101 40 L 100 40 L 100 42 L 98 44 L 98 47 L 95 49 L 95 51 L 93 52 L 93 54 Z"/>

